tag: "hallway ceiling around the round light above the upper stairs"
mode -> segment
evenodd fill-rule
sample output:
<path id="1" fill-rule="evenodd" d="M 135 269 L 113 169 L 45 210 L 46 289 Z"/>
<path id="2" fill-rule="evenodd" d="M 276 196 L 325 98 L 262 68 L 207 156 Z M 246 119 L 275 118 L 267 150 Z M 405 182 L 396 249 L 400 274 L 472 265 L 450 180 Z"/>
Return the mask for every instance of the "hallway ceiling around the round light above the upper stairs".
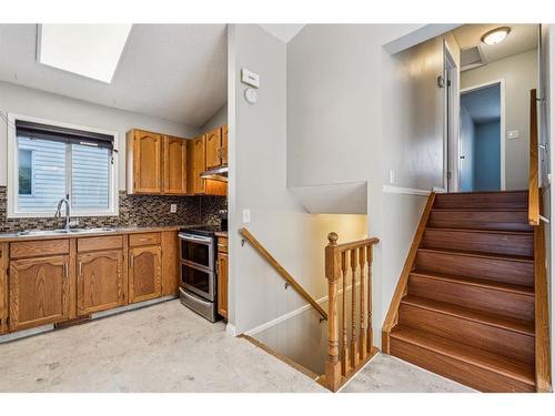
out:
<path id="1" fill-rule="evenodd" d="M 511 28 L 505 40 L 497 44 L 482 43 L 481 38 L 485 32 L 502 26 Z M 537 45 L 537 24 L 464 24 L 453 30 L 453 34 L 463 50 L 480 45 L 486 64 L 528 51 Z"/>

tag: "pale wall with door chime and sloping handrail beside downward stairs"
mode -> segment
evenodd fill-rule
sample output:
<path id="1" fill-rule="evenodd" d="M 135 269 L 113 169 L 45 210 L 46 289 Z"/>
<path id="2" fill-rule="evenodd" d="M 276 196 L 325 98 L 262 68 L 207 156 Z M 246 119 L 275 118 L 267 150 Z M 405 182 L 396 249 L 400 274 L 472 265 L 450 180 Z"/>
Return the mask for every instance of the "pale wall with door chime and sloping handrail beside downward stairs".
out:
<path id="1" fill-rule="evenodd" d="M 336 231 L 344 240 L 366 235 L 364 215 L 304 212 L 286 187 L 286 47 L 258 26 L 233 24 L 230 35 L 230 322 L 239 333 L 306 303 L 246 243 L 246 226 L 312 294 L 326 294 L 324 246 Z M 259 102 L 243 99 L 241 68 L 261 77 Z M 242 224 L 242 210 L 251 222 Z"/>

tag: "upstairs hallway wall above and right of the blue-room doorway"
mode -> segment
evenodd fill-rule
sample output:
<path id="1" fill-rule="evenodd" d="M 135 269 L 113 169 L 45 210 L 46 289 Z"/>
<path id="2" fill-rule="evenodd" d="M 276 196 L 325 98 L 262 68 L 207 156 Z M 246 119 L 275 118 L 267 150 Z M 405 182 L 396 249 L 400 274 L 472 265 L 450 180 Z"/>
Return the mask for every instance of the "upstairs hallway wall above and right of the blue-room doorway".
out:
<path id="1" fill-rule="evenodd" d="M 529 90 L 537 87 L 537 51 L 508 57 L 461 74 L 461 88 L 505 80 L 505 189 L 528 186 Z M 519 139 L 507 140 L 506 131 L 518 130 Z"/>

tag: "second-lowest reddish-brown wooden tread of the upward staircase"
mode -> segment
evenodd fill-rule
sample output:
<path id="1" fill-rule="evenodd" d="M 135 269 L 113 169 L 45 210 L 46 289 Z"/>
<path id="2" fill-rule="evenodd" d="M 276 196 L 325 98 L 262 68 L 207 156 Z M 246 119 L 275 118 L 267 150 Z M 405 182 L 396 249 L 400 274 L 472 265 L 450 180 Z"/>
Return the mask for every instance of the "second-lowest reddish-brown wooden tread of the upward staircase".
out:
<path id="1" fill-rule="evenodd" d="M 468 307 L 458 306 L 451 303 L 432 301 L 420 296 L 406 295 L 401 300 L 402 304 L 423 307 L 442 314 L 456 316 L 463 319 L 508 329 L 523 335 L 534 336 L 534 323 L 516 319 L 508 316 L 481 312 Z"/>

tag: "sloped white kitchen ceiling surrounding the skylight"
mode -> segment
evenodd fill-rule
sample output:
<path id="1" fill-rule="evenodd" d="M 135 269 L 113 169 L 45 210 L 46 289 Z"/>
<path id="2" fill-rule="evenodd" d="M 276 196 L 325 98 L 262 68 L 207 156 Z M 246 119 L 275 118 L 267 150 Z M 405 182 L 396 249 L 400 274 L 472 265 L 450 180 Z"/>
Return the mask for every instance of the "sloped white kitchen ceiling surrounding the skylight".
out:
<path id="1" fill-rule="evenodd" d="M 36 24 L 0 24 L 0 81 L 201 126 L 228 99 L 225 24 L 133 24 L 112 83 L 37 61 Z"/>

